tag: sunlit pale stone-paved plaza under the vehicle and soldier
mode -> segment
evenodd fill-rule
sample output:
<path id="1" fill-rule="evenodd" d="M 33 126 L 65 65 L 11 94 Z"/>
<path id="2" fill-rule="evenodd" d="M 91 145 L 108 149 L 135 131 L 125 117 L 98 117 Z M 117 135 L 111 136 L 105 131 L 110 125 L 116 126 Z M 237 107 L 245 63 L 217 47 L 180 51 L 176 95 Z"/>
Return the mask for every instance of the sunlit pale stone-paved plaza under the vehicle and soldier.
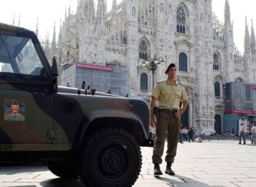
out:
<path id="1" fill-rule="evenodd" d="M 176 176 L 159 178 L 152 175 L 152 148 L 142 148 L 142 153 L 142 172 L 134 187 L 256 186 L 256 146 L 238 145 L 237 141 L 179 144 L 173 165 Z M 164 167 L 161 165 L 163 172 Z M 79 180 L 61 180 L 46 167 L 0 167 L 0 186 L 84 187 Z"/>

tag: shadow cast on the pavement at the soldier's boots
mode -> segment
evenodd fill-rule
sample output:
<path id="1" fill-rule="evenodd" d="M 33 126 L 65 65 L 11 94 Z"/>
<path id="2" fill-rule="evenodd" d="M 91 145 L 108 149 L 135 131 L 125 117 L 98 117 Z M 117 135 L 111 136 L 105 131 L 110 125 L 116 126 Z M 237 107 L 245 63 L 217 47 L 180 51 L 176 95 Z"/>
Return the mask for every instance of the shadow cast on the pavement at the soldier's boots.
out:
<path id="1" fill-rule="evenodd" d="M 207 185 L 206 183 L 201 183 L 200 181 L 193 180 L 188 177 L 183 177 L 181 175 L 174 175 L 173 177 L 177 178 L 181 181 L 184 181 L 184 182 L 179 182 L 179 181 L 172 180 L 172 179 L 166 178 L 166 177 L 155 176 L 156 179 L 168 183 L 169 186 L 175 186 L 175 187 L 179 187 L 179 186 L 183 187 L 183 186 L 190 186 L 190 185 L 197 186 L 197 187 L 225 187 L 225 186 L 221 186 L 221 185 L 210 186 L 210 185 Z"/>

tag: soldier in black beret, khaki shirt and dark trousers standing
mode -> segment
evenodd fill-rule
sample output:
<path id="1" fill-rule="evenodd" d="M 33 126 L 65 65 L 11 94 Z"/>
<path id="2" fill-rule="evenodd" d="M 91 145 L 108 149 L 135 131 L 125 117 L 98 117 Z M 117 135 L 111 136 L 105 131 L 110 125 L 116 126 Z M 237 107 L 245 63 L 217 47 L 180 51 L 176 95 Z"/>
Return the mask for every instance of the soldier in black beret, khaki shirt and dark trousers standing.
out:
<path id="1" fill-rule="evenodd" d="M 187 108 L 187 94 L 181 84 L 176 81 L 176 66 L 171 63 L 165 74 L 168 78 L 158 82 L 150 101 L 150 118 L 151 126 L 156 127 L 156 139 L 153 148 L 152 162 L 155 165 L 154 175 L 163 175 L 160 170 L 162 163 L 161 156 L 163 156 L 164 141 L 168 140 L 168 150 L 166 151 L 165 161 L 167 162 L 166 171 L 168 175 L 175 175 L 171 169 L 174 162 L 174 157 L 177 151 L 177 142 L 179 139 L 179 129 L 181 127 L 181 114 Z M 154 113 L 155 103 L 158 100 L 159 106 L 157 110 L 157 117 Z M 179 108 L 182 101 L 182 108 Z"/>

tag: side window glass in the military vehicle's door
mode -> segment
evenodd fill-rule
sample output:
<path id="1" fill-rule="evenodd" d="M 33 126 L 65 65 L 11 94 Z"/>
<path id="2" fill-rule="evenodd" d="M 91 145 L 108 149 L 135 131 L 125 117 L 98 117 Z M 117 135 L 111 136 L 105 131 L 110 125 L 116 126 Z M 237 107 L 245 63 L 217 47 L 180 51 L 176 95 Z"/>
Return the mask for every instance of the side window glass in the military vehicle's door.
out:
<path id="1" fill-rule="evenodd" d="M 46 76 L 30 38 L 0 34 L 0 73 Z"/>

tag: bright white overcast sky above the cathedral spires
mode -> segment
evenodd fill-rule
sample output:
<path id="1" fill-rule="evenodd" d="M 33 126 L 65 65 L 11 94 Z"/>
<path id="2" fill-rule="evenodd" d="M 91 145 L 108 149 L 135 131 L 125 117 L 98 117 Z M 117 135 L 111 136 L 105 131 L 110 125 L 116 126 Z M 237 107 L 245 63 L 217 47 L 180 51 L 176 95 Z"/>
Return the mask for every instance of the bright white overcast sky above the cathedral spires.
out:
<path id="1" fill-rule="evenodd" d="M 108 2 L 108 10 L 111 9 L 113 0 Z M 120 2 L 121 0 L 117 0 Z M 203 0 L 199 0 L 203 1 Z M 212 0 L 213 12 L 218 18 L 224 20 L 225 0 Z M 77 9 L 77 0 L 0 0 L 0 22 L 12 24 L 15 14 L 15 25 L 36 29 L 36 20 L 39 20 L 39 36 L 45 39 L 46 32 L 49 32 L 50 39 L 53 36 L 53 26 L 56 22 L 56 31 L 59 32 L 60 19 L 64 18 L 65 9 L 69 7 L 75 12 Z M 254 19 L 254 28 L 256 31 L 256 1 L 255 0 L 229 0 L 231 7 L 231 18 L 234 21 L 234 42 L 241 52 L 244 50 L 244 30 L 245 16 L 247 16 L 249 30 L 251 18 Z"/>

